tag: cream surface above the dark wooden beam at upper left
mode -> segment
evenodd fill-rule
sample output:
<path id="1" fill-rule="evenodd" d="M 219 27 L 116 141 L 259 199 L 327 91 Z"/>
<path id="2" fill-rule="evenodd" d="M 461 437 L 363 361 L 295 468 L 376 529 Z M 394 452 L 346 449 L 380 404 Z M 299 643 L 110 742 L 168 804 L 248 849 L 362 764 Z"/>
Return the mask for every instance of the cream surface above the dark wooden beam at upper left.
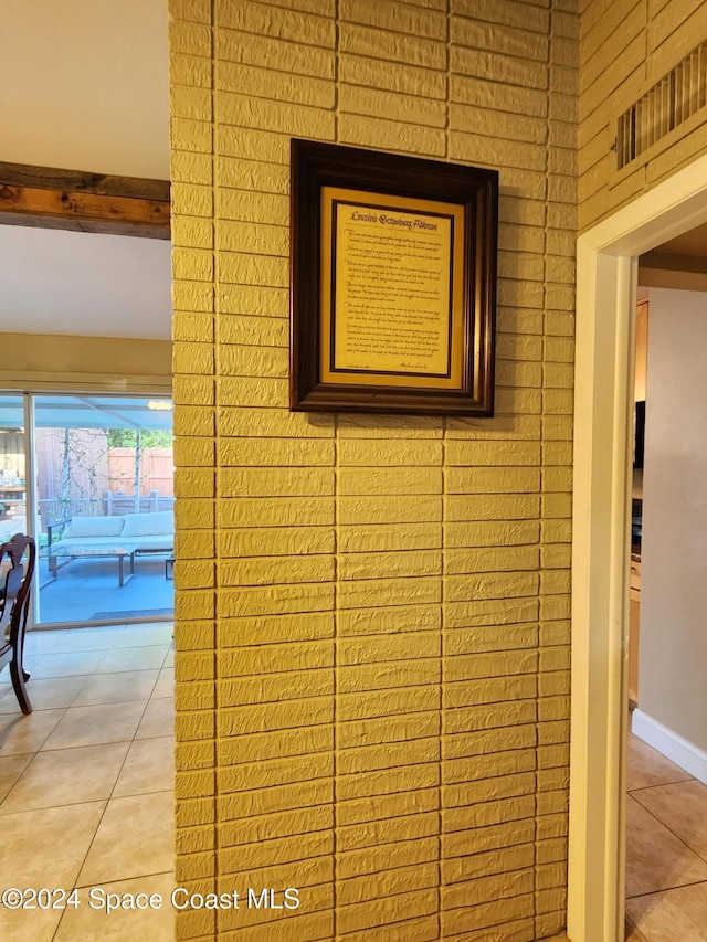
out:
<path id="1" fill-rule="evenodd" d="M 169 179 L 167 0 L 0 11 L 0 160 Z"/>

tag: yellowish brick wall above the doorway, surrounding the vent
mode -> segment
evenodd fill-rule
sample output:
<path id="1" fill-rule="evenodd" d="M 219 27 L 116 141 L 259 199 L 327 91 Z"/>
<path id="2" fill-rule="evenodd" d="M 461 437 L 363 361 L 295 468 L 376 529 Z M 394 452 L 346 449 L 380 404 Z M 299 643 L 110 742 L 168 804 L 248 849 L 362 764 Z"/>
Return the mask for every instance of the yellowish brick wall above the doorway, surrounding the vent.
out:
<path id="1" fill-rule="evenodd" d="M 704 116 L 620 172 L 612 149 L 619 115 L 707 40 L 707 2 L 580 0 L 580 7 L 579 226 L 585 230 L 707 149 Z"/>

